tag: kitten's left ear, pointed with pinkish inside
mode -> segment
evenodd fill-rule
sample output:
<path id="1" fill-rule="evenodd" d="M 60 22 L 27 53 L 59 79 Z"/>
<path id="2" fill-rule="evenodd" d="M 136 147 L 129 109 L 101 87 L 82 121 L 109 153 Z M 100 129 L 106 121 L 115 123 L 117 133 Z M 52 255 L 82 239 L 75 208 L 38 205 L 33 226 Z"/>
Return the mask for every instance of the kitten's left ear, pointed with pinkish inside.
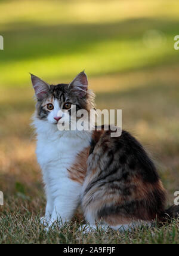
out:
<path id="1" fill-rule="evenodd" d="M 42 100 L 45 96 L 48 95 L 49 85 L 41 80 L 41 78 L 31 75 L 31 81 L 33 89 L 35 90 L 35 95 L 38 100 Z"/>

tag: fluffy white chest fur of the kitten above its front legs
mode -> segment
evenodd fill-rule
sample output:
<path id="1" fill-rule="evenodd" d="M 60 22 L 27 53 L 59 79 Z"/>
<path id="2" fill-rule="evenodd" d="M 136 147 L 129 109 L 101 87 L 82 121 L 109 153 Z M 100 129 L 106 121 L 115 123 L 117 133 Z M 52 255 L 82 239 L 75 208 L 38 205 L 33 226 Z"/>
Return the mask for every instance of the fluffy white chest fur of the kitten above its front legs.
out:
<path id="1" fill-rule="evenodd" d="M 66 182 L 67 169 L 75 163 L 76 156 L 90 145 L 88 133 L 76 131 L 60 132 L 36 124 L 37 147 L 36 155 L 41 166 L 44 183 L 53 186 Z M 50 127 L 48 127 L 50 128 Z"/>

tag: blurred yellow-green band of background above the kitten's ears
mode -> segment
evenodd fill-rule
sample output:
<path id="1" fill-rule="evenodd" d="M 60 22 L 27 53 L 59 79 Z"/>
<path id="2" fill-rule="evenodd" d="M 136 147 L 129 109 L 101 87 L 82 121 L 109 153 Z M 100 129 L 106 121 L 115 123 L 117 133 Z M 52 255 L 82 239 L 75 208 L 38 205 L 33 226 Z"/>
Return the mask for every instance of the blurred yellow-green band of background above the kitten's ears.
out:
<path id="1" fill-rule="evenodd" d="M 1 86 L 86 69 L 90 76 L 178 62 L 178 1 L 1 1 Z"/>

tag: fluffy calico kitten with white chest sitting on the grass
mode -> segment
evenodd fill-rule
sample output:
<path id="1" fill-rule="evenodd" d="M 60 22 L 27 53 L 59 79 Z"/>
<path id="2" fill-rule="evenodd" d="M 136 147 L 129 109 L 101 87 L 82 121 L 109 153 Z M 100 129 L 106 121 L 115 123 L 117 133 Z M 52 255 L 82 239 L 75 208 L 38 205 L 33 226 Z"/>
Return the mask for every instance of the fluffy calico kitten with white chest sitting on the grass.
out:
<path id="1" fill-rule="evenodd" d="M 72 83 L 57 86 L 35 75 L 31 78 L 37 99 L 36 154 L 45 184 L 48 225 L 71 220 L 79 204 L 92 227 L 96 221 L 118 229 L 177 217 L 179 206 L 165 211 L 166 193 L 155 165 L 128 132 L 113 138 L 110 129 L 58 130 L 57 123 L 66 118 L 66 114 L 58 116 L 60 109 L 70 115 L 72 105 L 89 114 L 94 108 L 84 72 Z"/>

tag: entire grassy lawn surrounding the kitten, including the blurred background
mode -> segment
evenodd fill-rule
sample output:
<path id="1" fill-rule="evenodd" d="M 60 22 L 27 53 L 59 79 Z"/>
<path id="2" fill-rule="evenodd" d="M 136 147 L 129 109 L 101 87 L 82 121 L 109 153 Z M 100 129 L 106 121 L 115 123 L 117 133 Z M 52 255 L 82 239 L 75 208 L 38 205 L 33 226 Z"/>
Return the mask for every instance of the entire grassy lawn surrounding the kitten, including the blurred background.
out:
<path id="1" fill-rule="evenodd" d="M 122 109 L 123 129 L 155 160 L 172 205 L 179 191 L 179 2 L 0 1 L 0 9 L 0 243 L 179 243 L 178 221 L 82 234 L 79 213 L 45 233 L 28 74 L 61 83 L 85 69 L 97 108 Z"/>

